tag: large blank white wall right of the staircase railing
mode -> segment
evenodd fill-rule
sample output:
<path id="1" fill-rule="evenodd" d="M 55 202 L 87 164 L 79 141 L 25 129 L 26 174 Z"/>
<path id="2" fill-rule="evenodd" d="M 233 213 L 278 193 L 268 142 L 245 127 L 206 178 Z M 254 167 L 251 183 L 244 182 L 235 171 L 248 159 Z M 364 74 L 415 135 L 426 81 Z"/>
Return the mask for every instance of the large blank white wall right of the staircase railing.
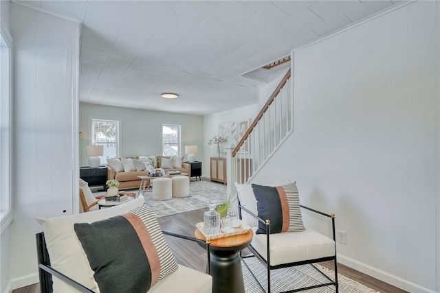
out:
<path id="1" fill-rule="evenodd" d="M 294 133 L 254 178 L 296 180 L 347 232 L 338 261 L 409 292 L 435 291 L 439 274 L 436 5 L 294 51 Z"/>

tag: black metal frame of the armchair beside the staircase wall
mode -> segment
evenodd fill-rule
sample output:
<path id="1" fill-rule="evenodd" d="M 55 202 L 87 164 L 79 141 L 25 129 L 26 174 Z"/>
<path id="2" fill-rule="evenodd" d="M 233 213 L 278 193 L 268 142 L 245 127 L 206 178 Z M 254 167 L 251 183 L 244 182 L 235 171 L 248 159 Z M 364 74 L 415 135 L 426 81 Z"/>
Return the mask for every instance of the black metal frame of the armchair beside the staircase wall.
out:
<path id="1" fill-rule="evenodd" d="M 266 266 L 266 268 L 267 268 L 267 293 L 271 292 L 271 284 L 270 284 L 270 271 L 271 270 L 276 270 L 276 269 L 279 269 L 279 268 L 288 268 L 288 267 L 292 267 L 292 266 L 301 266 L 301 265 L 304 265 L 304 264 L 310 264 L 312 268 L 314 268 L 315 270 L 320 272 L 320 274 L 322 274 L 322 276 L 324 276 L 327 280 L 329 280 L 329 282 L 321 283 L 321 284 L 317 284 L 317 285 L 311 285 L 311 286 L 304 287 L 304 288 L 298 288 L 298 289 L 295 289 L 295 290 L 284 291 L 284 292 L 281 292 L 281 293 L 298 292 L 298 291 L 303 291 L 303 290 L 308 290 L 308 289 L 325 287 L 325 286 L 329 286 L 329 285 L 334 285 L 335 288 L 336 288 L 336 293 L 338 293 L 339 292 L 339 284 L 338 284 L 338 262 L 336 260 L 335 215 L 333 213 L 331 215 L 329 215 L 327 213 L 322 213 L 321 211 L 317 211 L 316 209 L 311 209 L 309 207 L 305 207 L 305 206 L 303 206 L 301 204 L 300 204 L 300 207 L 305 209 L 305 210 L 307 210 L 307 211 L 312 211 L 314 213 L 318 213 L 319 215 L 323 215 L 323 216 L 325 216 L 327 218 L 331 218 L 331 225 L 332 225 L 332 232 L 333 232 L 333 241 L 335 241 L 335 255 L 332 255 L 330 257 L 322 257 L 320 259 L 308 259 L 308 260 L 305 260 L 305 261 L 296 261 L 296 262 L 292 262 L 292 263 L 283 263 L 283 264 L 280 264 L 280 265 L 277 265 L 277 266 L 271 266 L 270 265 L 270 221 L 269 220 L 263 220 L 263 219 L 259 218 L 258 215 L 255 215 L 254 213 L 252 213 L 251 211 L 249 211 L 245 207 L 241 206 L 240 201 L 239 201 L 239 217 L 240 217 L 240 219 L 241 219 L 241 211 L 243 210 L 246 213 L 252 215 L 252 217 L 256 218 L 256 220 L 258 220 L 259 222 L 265 224 L 265 226 L 266 226 L 266 241 L 267 241 L 267 260 L 258 251 L 256 251 L 256 249 L 252 246 L 252 243 L 250 244 L 250 246 L 248 246 L 248 249 L 251 251 L 252 255 L 242 255 L 241 254 L 240 257 L 243 260 L 243 263 L 245 264 L 246 268 L 248 269 L 248 271 L 250 272 L 252 277 L 259 284 L 261 290 L 263 290 L 263 292 L 266 292 L 266 290 L 263 288 L 263 285 L 261 285 L 260 281 L 256 278 L 256 276 L 254 275 L 252 270 L 249 268 L 248 264 L 244 260 L 245 258 L 256 257 L 257 259 L 259 259 L 259 261 L 261 261 L 261 263 L 263 263 Z M 329 276 L 327 276 L 327 274 L 325 274 L 324 272 L 320 271 L 318 268 L 316 268 L 316 266 L 312 265 L 312 263 L 318 263 L 318 262 L 321 262 L 321 261 L 333 261 L 334 262 L 334 271 L 335 271 L 335 280 L 334 281 Z"/>

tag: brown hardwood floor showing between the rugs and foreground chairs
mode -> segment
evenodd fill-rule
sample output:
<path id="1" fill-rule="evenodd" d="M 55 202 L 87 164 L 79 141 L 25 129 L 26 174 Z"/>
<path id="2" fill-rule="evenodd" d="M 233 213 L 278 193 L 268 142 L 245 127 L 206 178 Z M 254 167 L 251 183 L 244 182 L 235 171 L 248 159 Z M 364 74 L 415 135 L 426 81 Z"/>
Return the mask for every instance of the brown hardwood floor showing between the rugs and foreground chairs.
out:
<path id="1" fill-rule="evenodd" d="M 168 215 L 166 217 L 158 218 L 157 220 L 159 221 L 162 229 L 165 231 L 193 236 L 195 231 L 195 224 L 197 222 L 201 222 L 201 219 L 203 219 L 203 211 L 206 211 L 206 209 L 180 213 L 177 215 Z M 168 242 L 168 246 L 170 246 L 170 248 L 173 250 L 173 253 L 175 253 L 175 257 L 179 263 L 190 268 L 195 268 L 196 270 L 205 271 L 206 251 L 199 244 L 191 242 L 189 240 L 179 239 L 170 236 L 166 236 L 166 240 Z M 331 262 L 321 264 L 323 266 L 327 266 L 330 269 L 333 269 L 333 263 Z M 356 280 L 368 286 L 369 288 L 373 288 L 374 290 L 380 291 L 382 293 L 406 292 L 339 263 L 338 271 L 341 274 L 344 274 L 346 277 Z M 39 292 L 40 288 L 38 283 L 12 291 L 12 293 Z"/>

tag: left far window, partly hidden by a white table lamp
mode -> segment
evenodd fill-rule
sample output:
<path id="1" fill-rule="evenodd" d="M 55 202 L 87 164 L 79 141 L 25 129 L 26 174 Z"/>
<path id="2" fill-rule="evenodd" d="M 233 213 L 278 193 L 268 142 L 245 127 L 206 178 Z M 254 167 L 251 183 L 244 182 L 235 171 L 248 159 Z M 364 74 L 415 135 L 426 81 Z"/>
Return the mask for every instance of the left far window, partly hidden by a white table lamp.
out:
<path id="1" fill-rule="evenodd" d="M 101 165 L 107 163 L 107 159 L 118 158 L 119 141 L 118 120 L 91 119 L 91 144 L 104 146 Z"/>

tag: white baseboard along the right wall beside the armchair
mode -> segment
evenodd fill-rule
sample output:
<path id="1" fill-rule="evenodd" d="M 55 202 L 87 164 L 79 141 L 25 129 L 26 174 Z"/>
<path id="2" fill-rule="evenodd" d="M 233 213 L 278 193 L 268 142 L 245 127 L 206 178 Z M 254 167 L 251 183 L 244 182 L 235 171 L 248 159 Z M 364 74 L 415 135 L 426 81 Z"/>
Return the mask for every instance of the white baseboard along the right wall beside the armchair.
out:
<path id="1" fill-rule="evenodd" d="M 338 253 L 338 263 L 342 263 L 345 266 L 348 266 L 350 268 L 353 268 L 355 270 L 358 270 L 360 272 L 363 272 L 364 274 L 368 274 L 371 277 L 374 277 L 376 279 L 380 279 L 380 281 L 383 281 L 385 283 L 391 284 L 397 288 L 400 288 L 402 290 L 408 291 L 408 292 L 420 292 L 420 293 L 436 293 L 437 291 L 432 291 L 428 288 L 425 288 L 421 285 L 418 285 L 416 283 L 412 283 L 410 281 L 401 279 L 400 277 L 395 276 L 394 274 L 389 274 L 388 272 L 385 272 L 384 270 L 380 270 L 378 268 L 375 268 L 373 266 L 369 266 L 366 263 L 362 263 L 360 261 L 357 261 L 355 259 L 351 259 L 350 257 L 346 257 L 344 255 L 340 255 Z"/>

